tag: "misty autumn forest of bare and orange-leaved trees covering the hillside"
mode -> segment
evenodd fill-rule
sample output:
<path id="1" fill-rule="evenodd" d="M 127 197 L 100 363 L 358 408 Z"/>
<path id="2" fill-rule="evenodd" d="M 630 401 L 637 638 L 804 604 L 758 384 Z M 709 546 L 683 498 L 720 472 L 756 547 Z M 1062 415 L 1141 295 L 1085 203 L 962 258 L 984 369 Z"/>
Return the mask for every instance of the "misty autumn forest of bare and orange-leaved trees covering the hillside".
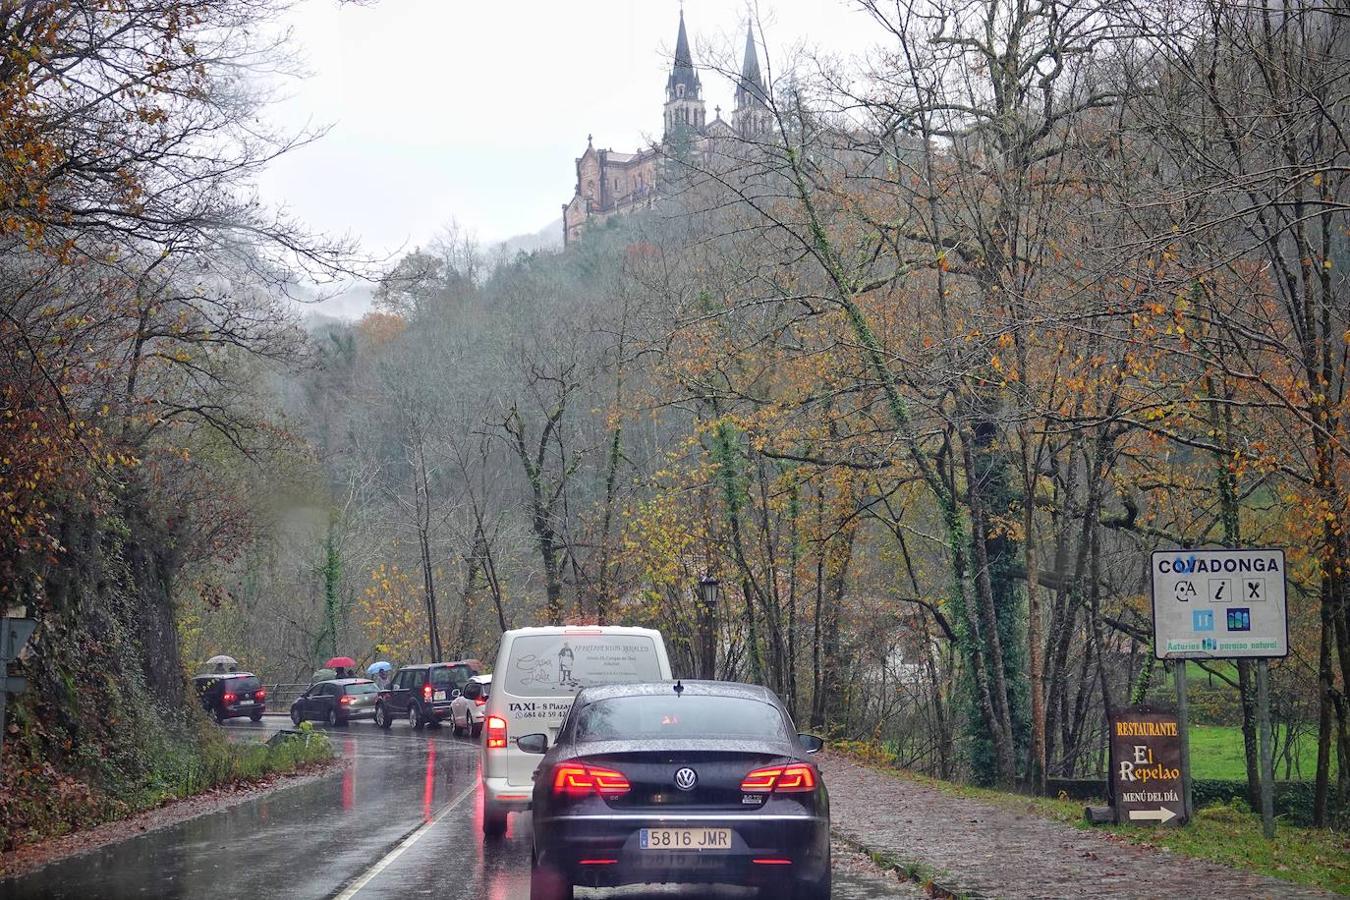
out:
<path id="1" fill-rule="evenodd" d="M 651 210 L 500 260 L 451 229 L 309 333 L 279 291 L 346 248 L 202 186 L 275 146 L 144 162 L 242 123 L 228 81 L 113 92 L 112 162 L 38 92 L 59 150 L 3 198 L 8 599 L 51 646 L 116 610 L 165 698 L 216 652 L 290 681 L 649 625 L 803 727 L 1044 787 L 1166 696 L 1150 551 L 1285 546 L 1274 708 L 1316 770 L 1282 775 L 1343 816 L 1350 18 L 857 7 L 867 58 L 768 59 L 772 130 L 672 140 Z M 1214 677 L 1254 784 L 1251 672 Z"/>

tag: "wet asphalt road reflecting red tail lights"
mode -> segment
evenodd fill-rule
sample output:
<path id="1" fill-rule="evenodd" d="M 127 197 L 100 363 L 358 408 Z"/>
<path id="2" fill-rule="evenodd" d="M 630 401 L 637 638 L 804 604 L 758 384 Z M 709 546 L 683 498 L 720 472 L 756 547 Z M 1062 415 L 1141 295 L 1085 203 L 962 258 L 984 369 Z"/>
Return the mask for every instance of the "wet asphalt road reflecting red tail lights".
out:
<path id="1" fill-rule="evenodd" d="M 236 739 L 265 739 L 289 722 L 234 719 Z M 331 730 L 344 772 L 230 810 L 131 837 L 28 876 L 0 881 L 0 899 L 285 897 L 526 900 L 529 815 L 505 839 L 482 839 L 478 745 L 450 729 Z M 410 841 L 409 841 L 410 838 Z M 896 884 L 838 872 L 834 897 L 891 897 Z M 595 900 L 749 897 L 738 888 L 578 889 Z"/>

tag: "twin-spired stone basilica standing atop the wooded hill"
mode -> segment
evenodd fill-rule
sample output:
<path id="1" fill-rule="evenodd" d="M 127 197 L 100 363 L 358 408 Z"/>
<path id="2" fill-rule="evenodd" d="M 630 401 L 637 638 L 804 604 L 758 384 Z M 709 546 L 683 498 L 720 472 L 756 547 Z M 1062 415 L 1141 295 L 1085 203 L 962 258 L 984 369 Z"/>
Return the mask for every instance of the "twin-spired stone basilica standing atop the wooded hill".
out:
<path id="1" fill-rule="evenodd" d="M 656 198 L 657 167 L 672 140 L 688 140 L 688 146 L 699 151 L 714 140 L 751 139 L 768 132 L 772 116 L 765 104 L 767 96 L 755 50 L 755 32 L 747 27 L 745 59 L 736 80 L 732 120 L 722 119 L 721 107 L 714 107 L 713 120 L 709 121 L 703 85 L 694 67 L 688 35 L 684 32 L 684 12 L 680 11 L 675 62 L 666 80 L 664 134 L 660 146 L 617 152 L 597 150 L 591 136 L 587 136 L 586 152 L 576 159 L 576 189 L 571 201 L 563 204 L 563 243 L 576 240 L 587 223 L 605 221 L 649 206 Z"/>

